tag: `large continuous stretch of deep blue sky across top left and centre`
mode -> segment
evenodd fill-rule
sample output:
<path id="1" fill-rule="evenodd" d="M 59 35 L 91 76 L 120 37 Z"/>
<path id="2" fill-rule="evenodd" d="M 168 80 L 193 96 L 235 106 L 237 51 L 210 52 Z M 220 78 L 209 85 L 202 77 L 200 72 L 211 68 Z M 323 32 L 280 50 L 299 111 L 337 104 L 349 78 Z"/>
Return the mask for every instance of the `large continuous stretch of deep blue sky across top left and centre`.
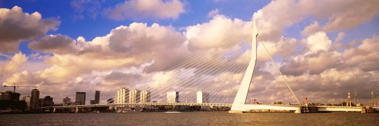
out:
<path id="1" fill-rule="evenodd" d="M 123 3 L 124 1 L 107 1 L 101 2 L 102 8 L 109 8 L 116 4 Z M 14 6 L 19 6 L 26 13 L 39 12 L 43 18 L 57 18 L 61 21 L 57 31 L 49 31 L 48 34 L 64 34 L 76 38 L 83 36 L 86 39 L 93 39 L 97 36 L 103 36 L 109 31 L 120 25 L 128 26 L 133 22 L 158 23 L 160 25 L 172 25 L 175 28 L 186 27 L 189 25 L 201 24 L 210 20 L 207 17 L 208 13 L 214 9 L 219 8 L 219 14 L 224 14 L 230 18 L 239 18 L 242 20 L 251 20 L 253 13 L 269 1 L 241 1 L 239 3 L 232 1 L 186 1 L 186 11 L 181 14 L 178 19 L 142 19 L 133 20 L 126 19 L 123 21 L 115 21 L 108 19 L 100 14 L 96 19 L 86 16 L 84 12 L 84 19 L 75 20 L 73 15 L 77 12 L 70 5 L 71 1 L 7 1 L 3 2 L 1 8 L 11 9 Z M 86 6 L 86 5 L 84 5 Z M 244 12 L 244 13 L 241 13 Z"/>

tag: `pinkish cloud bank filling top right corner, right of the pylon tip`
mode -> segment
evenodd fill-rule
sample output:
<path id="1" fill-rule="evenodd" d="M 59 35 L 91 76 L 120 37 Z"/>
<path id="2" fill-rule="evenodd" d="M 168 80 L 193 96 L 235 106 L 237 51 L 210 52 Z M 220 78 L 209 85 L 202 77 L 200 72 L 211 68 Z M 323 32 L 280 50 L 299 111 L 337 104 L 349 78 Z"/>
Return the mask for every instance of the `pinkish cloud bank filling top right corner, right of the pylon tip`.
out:
<path id="1" fill-rule="evenodd" d="M 253 15 L 264 40 L 277 41 L 282 30 L 299 23 L 306 16 L 327 20 L 324 26 L 318 22 L 307 26 L 302 35 L 324 31 L 340 31 L 355 28 L 371 21 L 379 14 L 377 1 L 272 1 Z"/>

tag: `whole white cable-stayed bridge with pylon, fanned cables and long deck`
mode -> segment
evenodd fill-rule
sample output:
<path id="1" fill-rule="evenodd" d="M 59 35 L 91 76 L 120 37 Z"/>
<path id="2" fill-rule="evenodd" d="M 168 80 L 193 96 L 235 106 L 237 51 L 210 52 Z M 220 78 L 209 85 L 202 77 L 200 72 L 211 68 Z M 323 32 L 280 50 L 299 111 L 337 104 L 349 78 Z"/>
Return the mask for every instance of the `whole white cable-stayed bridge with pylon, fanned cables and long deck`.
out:
<path id="1" fill-rule="evenodd" d="M 122 89 L 116 95 L 98 104 L 54 106 L 54 111 L 60 108 L 78 109 L 96 106 L 134 108 L 148 105 L 208 105 L 229 106 L 230 113 L 252 110 L 300 112 L 300 101 L 271 56 L 274 66 L 297 104 L 247 104 L 247 96 L 257 62 L 258 30 L 255 22 L 253 24 L 252 35 L 240 35 L 222 41 L 219 46 L 201 52 L 165 72 L 156 73 L 151 79 L 138 82 L 134 87 Z M 212 45 L 213 43 L 204 44 Z M 265 48 L 263 43 L 262 45 Z M 324 107 L 319 106 L 319 108 L 323 110 Z M 327 110 L 332 109 L 325 108 L 325 111 Z M 333 110 L 361 111 L 362 107 L 334 107 Z"/>

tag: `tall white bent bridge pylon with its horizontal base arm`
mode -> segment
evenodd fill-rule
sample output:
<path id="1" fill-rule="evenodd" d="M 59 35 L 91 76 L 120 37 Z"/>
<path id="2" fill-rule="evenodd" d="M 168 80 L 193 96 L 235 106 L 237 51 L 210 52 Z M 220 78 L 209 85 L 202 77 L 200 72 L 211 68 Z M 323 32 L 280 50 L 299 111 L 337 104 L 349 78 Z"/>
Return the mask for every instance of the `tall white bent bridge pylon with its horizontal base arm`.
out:
<path id="1" fill-rule="evenodd" d="M 258 30 L 256 22 L 253 21 L 253 38 L 251 45 L 251 59 L 240 88 L 235 95 L 233 104 L 229 113 L 242 113 L 250 110 L 299 110 L 299 106 L 284 106 L 284 105 L 261 105 L 261 104 L 245 104 L 250 88 L 251 79 L 253 77 L 254 68 L 257 62 L 257 36 Z"/>

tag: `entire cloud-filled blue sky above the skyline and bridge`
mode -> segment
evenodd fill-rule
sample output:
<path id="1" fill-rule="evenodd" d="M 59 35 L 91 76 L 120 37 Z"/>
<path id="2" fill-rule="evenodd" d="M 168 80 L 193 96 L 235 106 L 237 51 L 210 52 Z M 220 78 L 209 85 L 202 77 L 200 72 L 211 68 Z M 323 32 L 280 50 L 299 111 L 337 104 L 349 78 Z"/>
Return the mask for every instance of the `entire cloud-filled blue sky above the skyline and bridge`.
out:
<path id="1" fill-rule="evenodd" d="M 339 103 L 356 89 L 368 104 L 371 91 L 379 92 L 378 6 L 351 0 L 0 0 L 0 83 L 38 86 L 40 97 L 50 95 L 56 103 L 79 91 L 87 92 L 88 102 L 95 90 L 105 100 L 147 80 L 149 88 L 170 86 L 169 79 L 180 75 L 170 68 L 204 51 L 229 52 L 218 47 L 251 34 L 255 20 L 259 41 L 299 98 Z M 295 102 L 261 43 L 257 54 L 249 97 Z M 31 89 L 16 92 L 30 95 Z"/>

